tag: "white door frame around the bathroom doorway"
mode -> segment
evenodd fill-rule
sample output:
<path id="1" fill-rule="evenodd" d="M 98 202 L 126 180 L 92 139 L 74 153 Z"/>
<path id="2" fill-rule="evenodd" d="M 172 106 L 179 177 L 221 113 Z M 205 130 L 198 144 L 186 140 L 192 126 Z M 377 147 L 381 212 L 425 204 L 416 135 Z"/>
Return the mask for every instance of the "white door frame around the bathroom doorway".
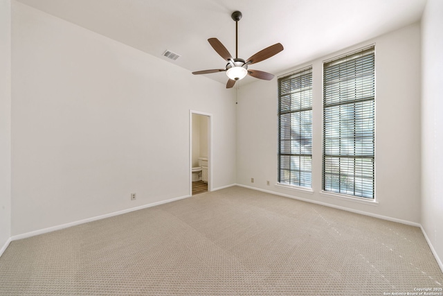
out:
<path id="1" fill-rule="evenodd" d="M 192 114 L 208 116 L 208 191 L 213 191 L 213 114 L 189 110 L 189 195 L 192 196 Z"/>

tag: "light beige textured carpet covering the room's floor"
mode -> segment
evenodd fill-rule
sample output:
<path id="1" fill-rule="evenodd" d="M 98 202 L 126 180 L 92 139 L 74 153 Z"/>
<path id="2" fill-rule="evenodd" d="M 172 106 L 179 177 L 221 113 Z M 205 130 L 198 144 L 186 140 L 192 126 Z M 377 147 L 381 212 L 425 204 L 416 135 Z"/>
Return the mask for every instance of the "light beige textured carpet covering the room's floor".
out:
<path id="1" fill-rule="evenodd" d="M 372 296 L 442 284 L 417 227 L 237 186 L 13 241 L 0 258 L 0 295 Z"/>

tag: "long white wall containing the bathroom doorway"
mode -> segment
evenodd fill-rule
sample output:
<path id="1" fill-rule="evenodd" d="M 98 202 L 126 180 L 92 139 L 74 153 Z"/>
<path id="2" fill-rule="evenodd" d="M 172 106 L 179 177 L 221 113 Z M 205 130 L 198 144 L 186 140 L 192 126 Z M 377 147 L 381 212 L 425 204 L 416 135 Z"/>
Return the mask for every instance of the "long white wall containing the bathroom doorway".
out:
<path id="1" fill-rule="evenodd" d="M 12 53 L 12 236 L 188 195 L 189 110 L 235 183 L 224 85 L 16 1 Z"/>

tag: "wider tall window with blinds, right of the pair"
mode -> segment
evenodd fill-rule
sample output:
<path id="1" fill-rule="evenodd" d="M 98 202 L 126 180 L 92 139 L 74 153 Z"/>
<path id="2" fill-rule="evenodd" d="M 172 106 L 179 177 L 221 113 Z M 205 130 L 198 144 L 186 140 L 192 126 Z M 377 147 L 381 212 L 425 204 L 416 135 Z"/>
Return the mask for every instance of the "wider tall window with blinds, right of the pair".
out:
<path id="1" fill-rule="evenodd" d="M 323 64 L 323 190 L 374 198 L 374 46 Z"/>

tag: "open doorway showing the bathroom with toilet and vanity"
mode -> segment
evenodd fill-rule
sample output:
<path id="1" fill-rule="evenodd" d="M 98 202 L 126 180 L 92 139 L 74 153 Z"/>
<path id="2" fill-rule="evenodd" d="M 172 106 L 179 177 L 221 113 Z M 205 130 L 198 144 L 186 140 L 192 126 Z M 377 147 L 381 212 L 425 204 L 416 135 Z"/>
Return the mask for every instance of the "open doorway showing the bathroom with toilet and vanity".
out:
<path id="1" fill-rule="evenodd" d="M 211 116 L 190 111 L 190 195 L 212 189 Z"/>

